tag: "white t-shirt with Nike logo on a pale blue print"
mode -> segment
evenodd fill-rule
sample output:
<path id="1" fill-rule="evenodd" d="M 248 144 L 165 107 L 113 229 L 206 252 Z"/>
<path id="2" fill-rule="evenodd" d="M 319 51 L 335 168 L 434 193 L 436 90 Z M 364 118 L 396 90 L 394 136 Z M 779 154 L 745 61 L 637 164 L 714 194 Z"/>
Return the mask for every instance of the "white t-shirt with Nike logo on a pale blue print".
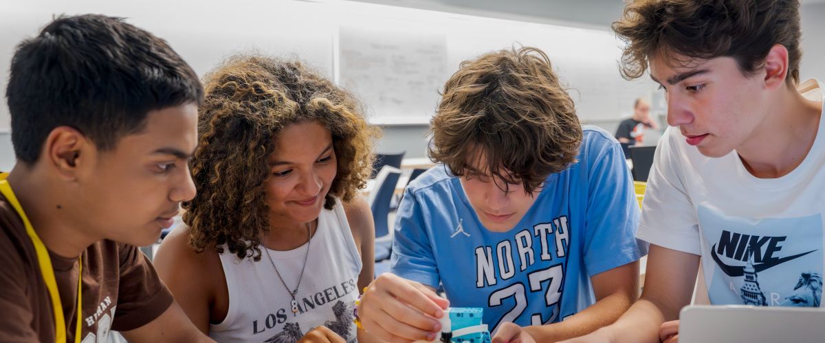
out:
<path id="1" fill-rule="evenodd" d="M 818 81 L 799 89 L 823 100 Z M 637 236 L 701 255 L 711 304 L 818 307 L 823 213 L 825 120 L 802 164 L 781 178 L 754 177 L 736 151 L 701 155 L 671 127 L 653 159 Z"/>

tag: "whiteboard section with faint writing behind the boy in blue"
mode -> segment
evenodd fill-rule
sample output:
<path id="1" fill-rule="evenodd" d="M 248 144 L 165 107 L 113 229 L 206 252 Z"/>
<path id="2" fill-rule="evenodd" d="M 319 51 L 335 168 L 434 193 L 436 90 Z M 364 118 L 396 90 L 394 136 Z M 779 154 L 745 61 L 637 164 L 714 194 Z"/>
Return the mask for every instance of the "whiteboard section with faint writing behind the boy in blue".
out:
<path id="1" fill-rule="evenodd" d="M 606 27 L 574 28 L 410 8 L 368 9 L 363 4 L 339 9 L 336 59 L 338 81 L 365 100 L 372 123 L 429 123 L 440 99 L 438 90 L 462 61 L 518 46 L 533 46 L 548 55 L 582 123 L 629 117 L 634 100 L 650 99 L 657 89 L 651 80 L 626 81 L 620 76 L 620 41 Z M 417 52 L 418 47 L 441 44 L 446 44 L 443 73 L 441 56 L 427 48 Z M 405 65 L 416 67 L 389 67 L 398 53 Z M 399 79 L 439 81 L 399 86 Z"/>

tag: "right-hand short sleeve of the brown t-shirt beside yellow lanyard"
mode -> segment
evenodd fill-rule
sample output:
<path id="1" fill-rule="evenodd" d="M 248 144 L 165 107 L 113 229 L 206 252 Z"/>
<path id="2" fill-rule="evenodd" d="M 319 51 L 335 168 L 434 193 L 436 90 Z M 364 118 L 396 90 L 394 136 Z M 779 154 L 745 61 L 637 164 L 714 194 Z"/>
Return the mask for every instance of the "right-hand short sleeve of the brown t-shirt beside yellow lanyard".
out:
<path id="1" fill-rule="evenodd" d="M 144 253 L 132 245 L 118 245 L 120 290 L 111 329 L 130 331 L 158 318 L 172 305 L 174 299 Z"/>

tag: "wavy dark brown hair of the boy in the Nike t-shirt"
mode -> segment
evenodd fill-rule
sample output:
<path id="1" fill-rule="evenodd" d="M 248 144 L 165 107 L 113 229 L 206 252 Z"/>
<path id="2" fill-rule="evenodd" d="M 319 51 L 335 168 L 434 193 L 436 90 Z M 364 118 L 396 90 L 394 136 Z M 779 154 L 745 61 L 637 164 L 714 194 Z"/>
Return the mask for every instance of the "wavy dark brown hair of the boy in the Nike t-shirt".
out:
<path id="1" fill-rule="evenodd" d="M 637 0 L 612 27 L 627 44 L 621 67 L 626 79 L 643 76 L 652 57 L 676 57 L 675 63 L 687 65 L 725 56 L 751 75 L 781 44 L 788 49 L 785 80 L 799 82 L 799 0 Z"/>

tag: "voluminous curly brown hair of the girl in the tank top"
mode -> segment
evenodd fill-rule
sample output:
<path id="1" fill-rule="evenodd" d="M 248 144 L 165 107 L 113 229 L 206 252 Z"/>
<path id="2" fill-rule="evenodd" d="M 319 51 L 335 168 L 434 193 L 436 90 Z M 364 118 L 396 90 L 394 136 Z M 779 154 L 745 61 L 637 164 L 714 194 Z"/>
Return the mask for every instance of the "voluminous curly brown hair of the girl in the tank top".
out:
<path id="1" fill-rule="evenodd" d="M 238 55 L 205 76 L 200 139 L 190 167 L 197 195 L 185 202 L 183 221 L 196 252 L 214 247 L 243 258 L 261 258 L 270 228 L 267 158 L 278 134 L 294 123 L 318 122 L 332 133 L 337 174 L 324 199 L 351 201 L 372 168 L 370 148 L 379 135 L 346 90 L 295 60 Z"/>

